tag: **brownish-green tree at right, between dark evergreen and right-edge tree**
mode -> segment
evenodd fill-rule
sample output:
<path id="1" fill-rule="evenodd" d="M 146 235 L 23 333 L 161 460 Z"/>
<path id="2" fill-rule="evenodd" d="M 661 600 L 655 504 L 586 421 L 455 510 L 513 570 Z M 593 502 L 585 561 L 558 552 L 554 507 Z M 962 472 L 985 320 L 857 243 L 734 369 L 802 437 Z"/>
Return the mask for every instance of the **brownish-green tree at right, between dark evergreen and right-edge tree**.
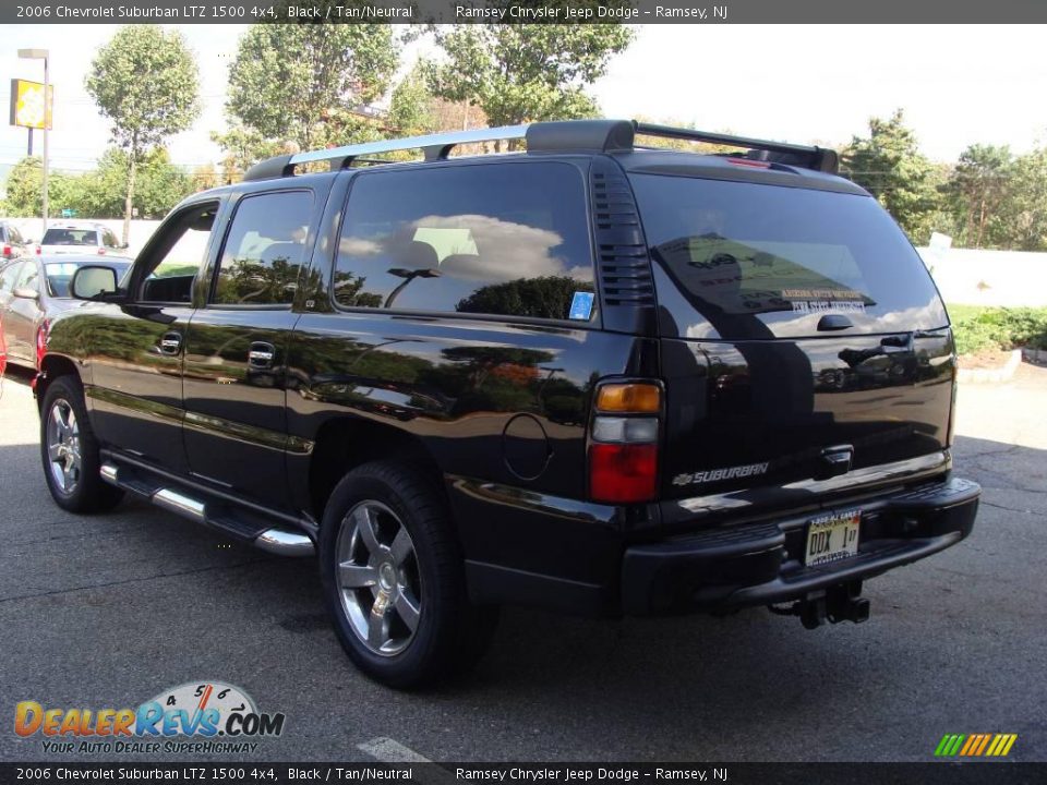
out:
<path id="1" fill-rule="evenodd" d="M 942 191 L 955 222 L 959 244 L 1007 245 L 1000 208 L 1011 195 L 1014 156 L 1007 146 L 971 145 L 949 174 Z"/>

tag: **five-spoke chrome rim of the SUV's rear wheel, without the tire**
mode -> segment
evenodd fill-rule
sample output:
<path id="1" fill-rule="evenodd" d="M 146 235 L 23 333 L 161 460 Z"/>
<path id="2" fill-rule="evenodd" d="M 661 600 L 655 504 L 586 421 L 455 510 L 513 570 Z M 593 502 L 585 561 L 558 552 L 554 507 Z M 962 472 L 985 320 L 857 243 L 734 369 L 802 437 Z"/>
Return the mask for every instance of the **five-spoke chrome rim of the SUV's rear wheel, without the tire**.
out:
<path id="1" fill-rule="evenodd" d="M 402 521 L 381 502 L 361 502 L 341 520 L 336 554 L 341 607 L 353 632 L 375 654 L 404 651 L 418 630 L 422 585 Z"/>

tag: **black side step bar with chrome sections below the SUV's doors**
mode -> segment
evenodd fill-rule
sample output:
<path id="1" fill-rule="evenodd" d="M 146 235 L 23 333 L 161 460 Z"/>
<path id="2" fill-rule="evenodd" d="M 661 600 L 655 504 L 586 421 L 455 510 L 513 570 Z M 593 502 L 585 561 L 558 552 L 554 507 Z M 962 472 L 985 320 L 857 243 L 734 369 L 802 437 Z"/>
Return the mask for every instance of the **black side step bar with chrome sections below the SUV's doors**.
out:
<path id="1" fill-rule="evenodd" d="M 120 467 L 116 463 L 103 463 L 98 473 L 107 483 L 143 496 L 157 507 L 196 523 L 203 523 L 237 540 L 250 542 L 263 551 L 279 556 L 311 556 L 314 552 L 313 541 L 308 535 L 242 520 L 236 517 L 236 512 L 230 512 L 228 505 L 222 505 L 220 512 L 208 515 L 206 502 L 182 491 L 166 486 L 155 487 L 143 482 L 139 476 L 121 481 Z"/>

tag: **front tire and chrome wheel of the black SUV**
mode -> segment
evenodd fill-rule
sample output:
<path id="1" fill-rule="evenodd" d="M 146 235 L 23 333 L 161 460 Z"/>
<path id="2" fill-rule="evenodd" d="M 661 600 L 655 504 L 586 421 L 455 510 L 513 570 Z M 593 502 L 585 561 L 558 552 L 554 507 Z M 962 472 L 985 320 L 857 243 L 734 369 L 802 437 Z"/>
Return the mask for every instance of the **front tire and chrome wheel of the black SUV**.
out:
<path id="1" fill-rule="evenodd" d="M 101 456 L 84 391 L 72 376 L 51 382 L 40 407 L 40 460 L 51 498 L 70 512 L 104 512 L 123 498 L 98 473 Z"/>

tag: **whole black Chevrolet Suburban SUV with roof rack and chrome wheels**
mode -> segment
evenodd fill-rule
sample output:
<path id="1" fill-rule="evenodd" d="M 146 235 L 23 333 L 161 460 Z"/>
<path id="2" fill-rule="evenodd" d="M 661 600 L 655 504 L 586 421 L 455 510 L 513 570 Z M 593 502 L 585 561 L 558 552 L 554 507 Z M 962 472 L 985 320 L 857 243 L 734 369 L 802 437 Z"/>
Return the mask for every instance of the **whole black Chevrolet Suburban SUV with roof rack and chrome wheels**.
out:
<path id="1" fill-rule="evenodd" d="M 526 152 L 448 157 L 492 140 Z M 835 165 L 623 121 L 263 161 L 119 287 L 76 274 L 48 486 L 315 546 L 349 656 L 400 687 L 472 663 L 502 603 L 861 621 L 862 581 L 960 542 L 979 488 L 938 292 Z"/>

